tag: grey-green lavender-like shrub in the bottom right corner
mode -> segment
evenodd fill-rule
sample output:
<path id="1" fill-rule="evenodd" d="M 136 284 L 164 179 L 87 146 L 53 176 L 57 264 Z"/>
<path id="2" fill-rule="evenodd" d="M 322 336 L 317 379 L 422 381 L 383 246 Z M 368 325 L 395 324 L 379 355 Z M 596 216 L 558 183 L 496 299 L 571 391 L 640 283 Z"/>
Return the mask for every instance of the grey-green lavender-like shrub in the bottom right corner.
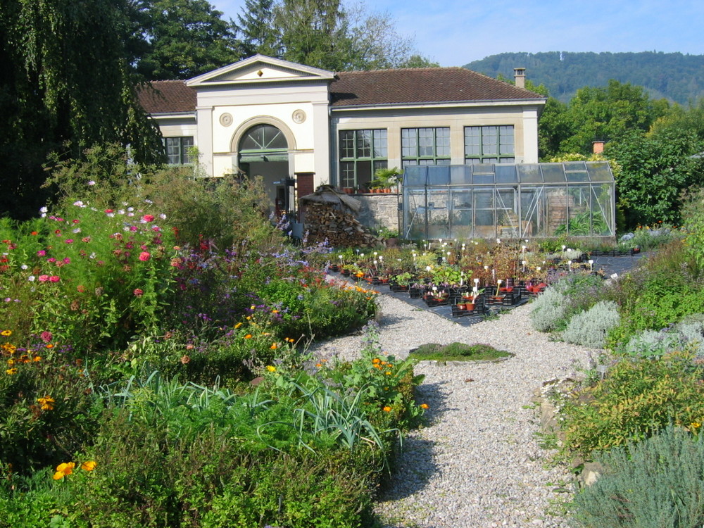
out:
<path id="1" fill-rule="evenodd" d="M 696 528 L 704 524 L 704 436 L 681 427 L 596 457 L 605 470 L 574 497 L 584 528 Z"/>

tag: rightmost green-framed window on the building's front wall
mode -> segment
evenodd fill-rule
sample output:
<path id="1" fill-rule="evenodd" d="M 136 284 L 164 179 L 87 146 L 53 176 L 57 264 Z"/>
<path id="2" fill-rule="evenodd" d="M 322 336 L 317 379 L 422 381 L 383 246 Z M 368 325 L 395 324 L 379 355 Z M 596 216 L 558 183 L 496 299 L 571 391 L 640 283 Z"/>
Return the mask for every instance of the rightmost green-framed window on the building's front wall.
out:
<path id="1" fill-rule="evenodd" d="M 515 162 L 513 125 L 465 127 L 465 165 Z"/>

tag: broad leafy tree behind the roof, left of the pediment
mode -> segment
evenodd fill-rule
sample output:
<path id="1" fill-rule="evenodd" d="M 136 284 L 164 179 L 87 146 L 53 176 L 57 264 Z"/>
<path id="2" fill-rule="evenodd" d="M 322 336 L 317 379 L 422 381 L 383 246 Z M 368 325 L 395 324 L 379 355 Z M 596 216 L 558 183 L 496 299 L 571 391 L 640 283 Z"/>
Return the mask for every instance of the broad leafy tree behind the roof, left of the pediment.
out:
<path id="1" fill-rule="evenodd" d="M 138 70 L 149 80 L 188 79 L 243 56 L 232 21 L 207 0 L 152 0 Z"/>

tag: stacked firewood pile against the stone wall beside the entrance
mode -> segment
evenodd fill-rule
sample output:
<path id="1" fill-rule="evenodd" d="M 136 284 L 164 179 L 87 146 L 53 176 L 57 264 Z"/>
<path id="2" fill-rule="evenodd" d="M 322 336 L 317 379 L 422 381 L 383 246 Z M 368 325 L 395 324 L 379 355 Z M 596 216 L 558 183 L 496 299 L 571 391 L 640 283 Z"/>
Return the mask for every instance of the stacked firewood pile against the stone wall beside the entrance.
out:
<path id="1" fill-rule="evenodd" d="M 327 239 L 335 247 L 374 247 L 382 243 L 350 213 L 329 203 L 306 204 L 306 231 L 309 242 Z"/>

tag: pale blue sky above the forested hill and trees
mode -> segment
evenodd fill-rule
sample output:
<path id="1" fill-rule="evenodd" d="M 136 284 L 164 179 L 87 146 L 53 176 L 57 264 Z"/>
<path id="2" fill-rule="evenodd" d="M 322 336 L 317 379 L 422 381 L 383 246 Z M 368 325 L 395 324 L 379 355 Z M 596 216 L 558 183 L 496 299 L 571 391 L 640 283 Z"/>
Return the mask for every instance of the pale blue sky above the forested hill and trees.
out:
<path id="1" fill-rule="evenodd" d="M 354 0 L 347 0 L 354 1 Z M 210 0 L 237 20 L 244 0 Z M 701 0 L 370 0 L 418 51 L 461 66 L 504 51 L 704 54 Z"/>

